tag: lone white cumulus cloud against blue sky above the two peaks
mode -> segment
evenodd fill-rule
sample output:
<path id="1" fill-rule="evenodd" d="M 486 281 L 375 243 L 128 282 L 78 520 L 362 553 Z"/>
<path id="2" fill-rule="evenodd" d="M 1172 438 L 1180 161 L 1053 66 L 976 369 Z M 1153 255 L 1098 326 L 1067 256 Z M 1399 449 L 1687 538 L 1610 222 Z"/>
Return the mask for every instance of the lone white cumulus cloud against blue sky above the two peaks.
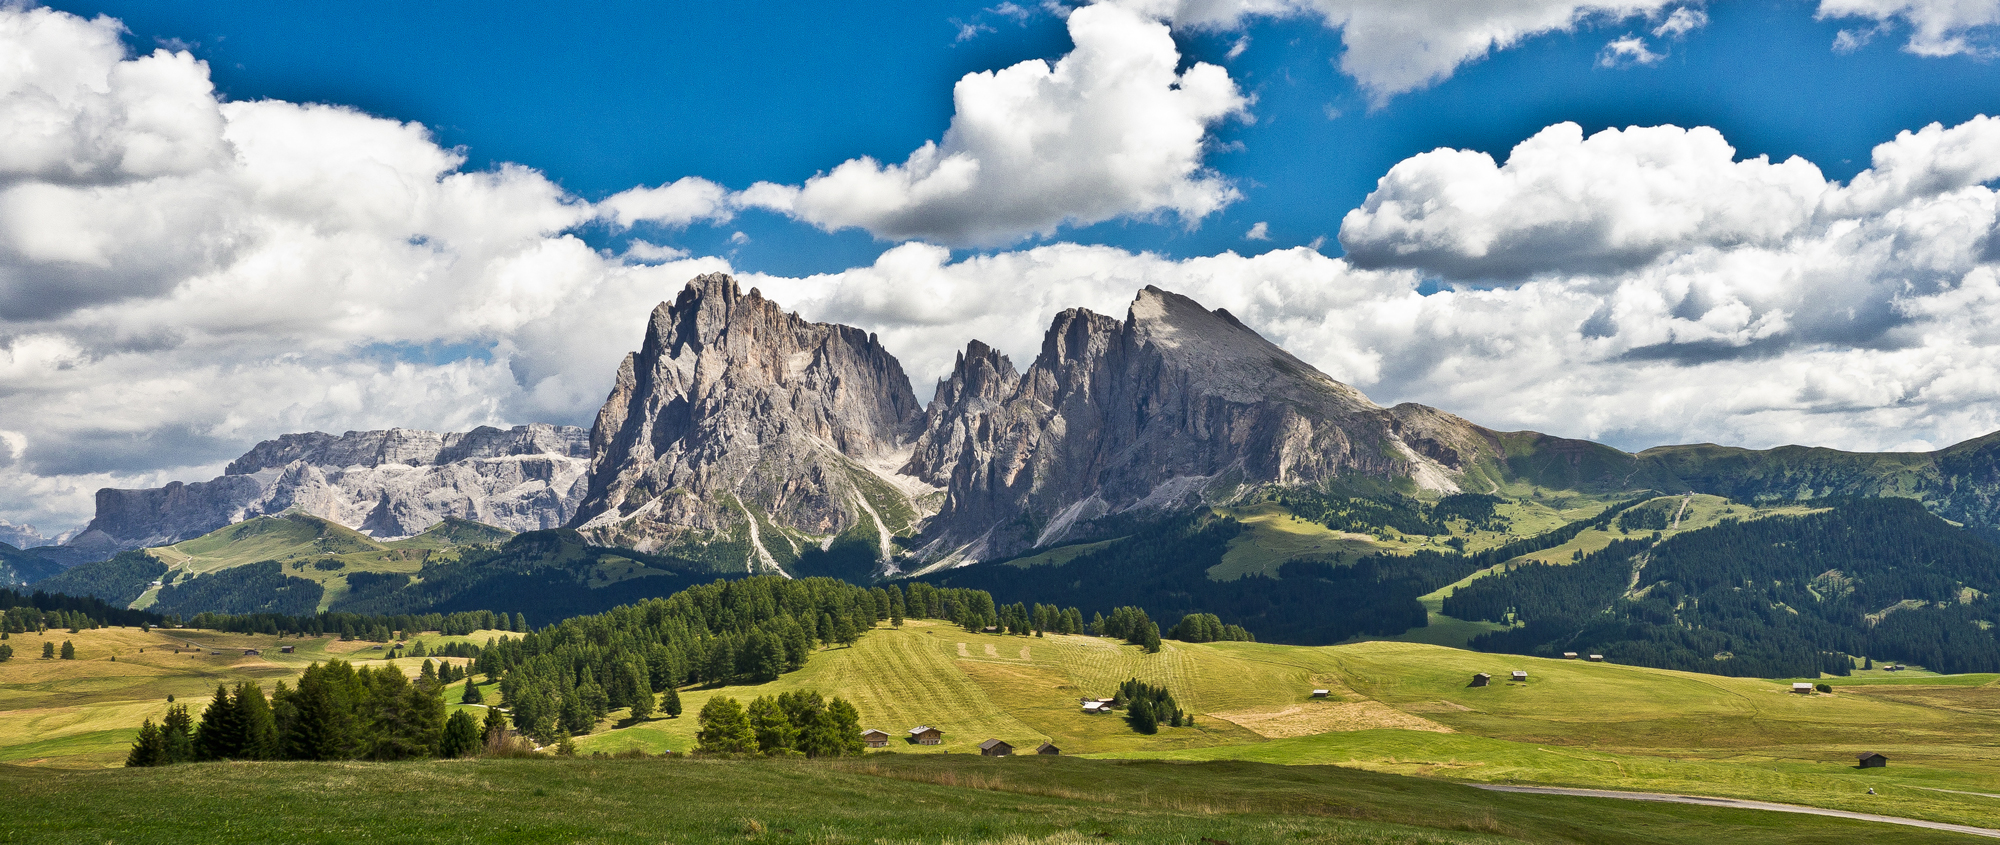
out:
<path id="1" fill-rule="evenodd" d="M 1248 106 L 1228 72 L 1178 70 L 1168 28 L 1118 6 L 1068 18 L 1076 48 L 968 74 L 942 142 L 900 164 L 854 158 L 740 204 L 888 240 L 1004 244 L 1062 224 L 1172 212 L 1194 222 L 1238 192 L 1202 166 L 1208 128 Z"/>

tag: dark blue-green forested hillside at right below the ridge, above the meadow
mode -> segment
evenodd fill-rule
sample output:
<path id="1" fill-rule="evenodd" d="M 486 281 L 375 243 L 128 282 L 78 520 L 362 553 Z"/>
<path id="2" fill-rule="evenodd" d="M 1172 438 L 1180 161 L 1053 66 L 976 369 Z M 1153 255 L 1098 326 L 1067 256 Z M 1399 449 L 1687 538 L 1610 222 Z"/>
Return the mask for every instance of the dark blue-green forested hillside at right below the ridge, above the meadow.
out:
<path id="1" fill-rule="evenodd" d="M 1486 651 L 1748 677 L 1846 675 L 1848 655 L 2000 671 L 2000 549 L 1908 499 L 1824 505 L 1516 567 L 1458 589 L 1444 613 L 1522 623 L 1472 643 Z"/>

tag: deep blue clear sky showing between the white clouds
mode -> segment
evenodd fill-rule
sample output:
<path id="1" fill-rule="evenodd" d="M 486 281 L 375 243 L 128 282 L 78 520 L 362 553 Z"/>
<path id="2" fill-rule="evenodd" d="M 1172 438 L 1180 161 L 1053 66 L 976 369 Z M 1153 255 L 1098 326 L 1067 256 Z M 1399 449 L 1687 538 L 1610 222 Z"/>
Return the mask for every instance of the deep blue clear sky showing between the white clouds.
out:
<path id="1" fill-rule="evenodd" d="M 944 132 L 960 76 L 1070 48 L 1056 14 L 1010 16 L 990 2 L 52 6 L 124 20 L 140 52 L 186 44 L 228 98 L 416 120 L 442 144 L 464 146 L 474 168 L 528 164 L 586 198 L 690 174 L 744 188 L 796 184 L 854 156 L 900 160 Z M 1392 164 L 1438 146 L 1504 156 L 1560 120 L 1586 132 L 1716 126 L 1740 156 L 1804 156 L 1844 180 L 1898 130 L 2000 108 L 1990 58 L 1914 56 L 1894 28 L 1908 24 L 1836 54 L 1836 34 L 1854 20 L 1814 20 L 1810 2 L 1688 8 L 1704 10 L 1708 24 L 1664 44 L 1656 64 L 1600 66 L 1608 40 L 1646 34 L 1652 22 L 1596 20 L 1530 36 L 1382 108 L 1336 68 L 1340 34 L 1314 18 L 1184 30 L 1176 42 L 1186 60 L 1226 66 L 1256 96 L 1254 120 L 1218 126 L 1208 156 L 1244 198 L 1194 230 L 1178 218 L 1110 220 L 1044 240 L 1196 256 L 1246 248 L 1242 234 L 1262 220 L 1272 246 L 1324 236 L 1322 250 L 1340 254 L 1340 216 Z M 1246 48 L 1230 58 L 1238 42 Z M 734 248 L 736 264 L 782 274 L 834 272 L 892 246 L 768 212 L 672 240 L 730 250 L 738 230 L 752 240 Z M 610 232 L 586 236 L 602 242 Z"/>

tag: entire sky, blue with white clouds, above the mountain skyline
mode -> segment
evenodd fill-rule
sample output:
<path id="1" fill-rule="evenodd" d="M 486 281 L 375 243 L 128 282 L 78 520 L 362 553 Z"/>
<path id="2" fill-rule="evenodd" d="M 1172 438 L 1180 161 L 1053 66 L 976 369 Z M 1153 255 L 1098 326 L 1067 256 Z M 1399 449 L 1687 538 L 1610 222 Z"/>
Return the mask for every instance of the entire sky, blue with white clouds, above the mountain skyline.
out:
<path id="1" fill-rule="evenodd" d="M 0 54 L 50 531 L 282 433 L 590 425 L 718 270 L 918 396 L 1158 284 L 1502 431 L 2000 429 L 2000 0 L 54 2 Z"/>

